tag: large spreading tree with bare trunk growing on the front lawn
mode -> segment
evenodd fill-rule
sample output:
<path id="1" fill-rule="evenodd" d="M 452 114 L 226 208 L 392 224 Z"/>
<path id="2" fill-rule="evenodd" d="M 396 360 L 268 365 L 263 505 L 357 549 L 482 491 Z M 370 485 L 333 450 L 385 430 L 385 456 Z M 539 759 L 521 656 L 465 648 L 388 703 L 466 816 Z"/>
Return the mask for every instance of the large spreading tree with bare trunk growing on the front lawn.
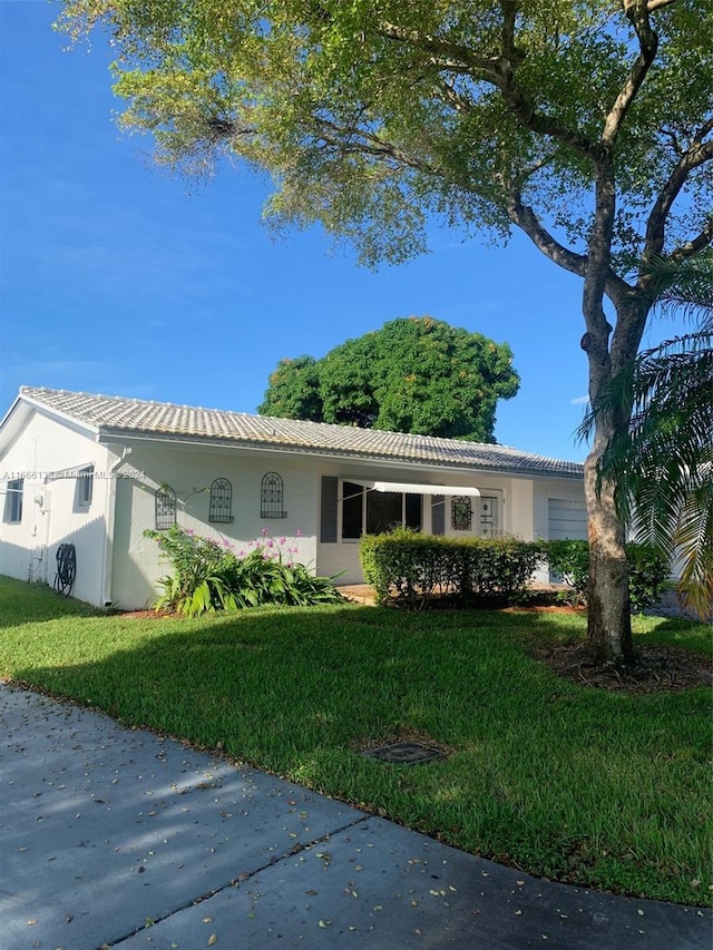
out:
<path id="1" fill-rule="evenodd" d="M 593 404 L 636 358 L 646 263 L 713 239 L 710 0 L 65 0 L 60 26 L 110 31 L 121 123 L 158 160 L 266 169 L 270 219 L 319 221 L 367 263 L 420 254 L 432 215 L 520 228 L 583 280 Z M 627 567 L 598 461 L 629 411 L 597 417 L 585 462 L 589 640 L 614 659 Z"/>

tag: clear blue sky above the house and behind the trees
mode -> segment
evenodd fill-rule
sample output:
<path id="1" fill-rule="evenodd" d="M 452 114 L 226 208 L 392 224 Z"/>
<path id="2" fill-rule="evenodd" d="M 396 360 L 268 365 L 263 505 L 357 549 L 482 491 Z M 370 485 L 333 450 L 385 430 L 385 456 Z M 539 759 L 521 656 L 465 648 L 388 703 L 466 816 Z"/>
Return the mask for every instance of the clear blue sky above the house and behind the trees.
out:
<path id="1" fill-rule="evenodd" d="M 56 16 L 0 0 L 0 417 L 21 384 L 254 412 L 283 356 L 430 314 L 512 347 L 499 442 L 584 458 L 578 278 L 519 235 L 434 231 L 429 255 L 377 273 L 316 227 L 275 243 L 268 182 L 226 168 L 196 187 L 153 166 L 114 123 L 101 38 L 65 51 Z"/>

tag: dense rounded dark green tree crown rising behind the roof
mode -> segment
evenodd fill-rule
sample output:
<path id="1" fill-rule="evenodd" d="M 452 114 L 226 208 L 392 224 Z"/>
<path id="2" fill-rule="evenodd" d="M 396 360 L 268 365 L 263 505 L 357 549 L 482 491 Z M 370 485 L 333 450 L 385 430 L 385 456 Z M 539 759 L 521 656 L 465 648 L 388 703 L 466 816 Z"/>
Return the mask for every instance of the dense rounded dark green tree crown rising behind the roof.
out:
<path id="1" fill-rule="evenodd" d="M 258 412 L 495 441 L 496 405 L 519 386 L 507 343 L 430 316 L 385 323 L 322 360 L 281 360 Z"/>

